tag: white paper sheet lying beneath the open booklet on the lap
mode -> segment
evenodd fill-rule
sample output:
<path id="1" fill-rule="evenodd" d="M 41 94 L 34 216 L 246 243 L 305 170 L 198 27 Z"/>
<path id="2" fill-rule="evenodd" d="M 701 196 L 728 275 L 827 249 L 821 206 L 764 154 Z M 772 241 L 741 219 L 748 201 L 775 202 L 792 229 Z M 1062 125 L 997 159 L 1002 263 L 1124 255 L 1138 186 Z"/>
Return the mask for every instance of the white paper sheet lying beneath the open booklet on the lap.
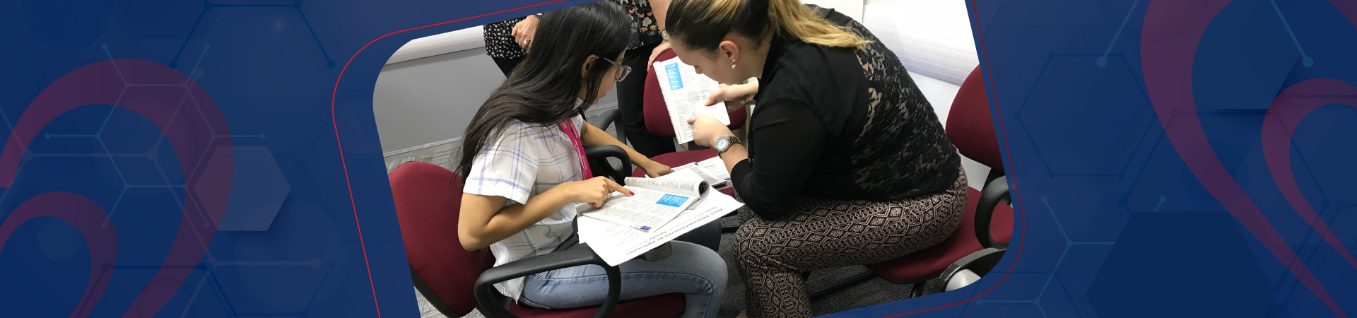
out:
<path id="1" fill-rule="evenodd" d="M 588 243 L 608 265 L 616 266 L 673 241 L 681 234 L 721 219 L 740 207 L 744 204 L 735 198 L 707 189 L 696 207 L 649 232 L 592 217 L 579 217 L 577 220 L 579 223 L 578 235 L 579 242 Z"/>

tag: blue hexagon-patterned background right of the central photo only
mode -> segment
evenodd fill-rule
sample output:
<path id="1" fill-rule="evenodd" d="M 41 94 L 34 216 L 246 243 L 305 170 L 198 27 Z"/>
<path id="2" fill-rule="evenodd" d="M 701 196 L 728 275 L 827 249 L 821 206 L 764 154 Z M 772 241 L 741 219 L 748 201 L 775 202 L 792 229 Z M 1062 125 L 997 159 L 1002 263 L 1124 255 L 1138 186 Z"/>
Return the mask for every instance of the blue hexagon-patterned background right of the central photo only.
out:
<path id="1" fill-rule="evenodd" d="M 1018 232 L 995 272 L 961 291 L 826 317 L 1346 317 L 1357 269 L 1282 198 L 1263 159 L 1265 114 L 1307 79 L 1357 83 L 1354 22 L 1324 0 L 968 0 L 1015 190 Z M 1147 20 L 1149 5 L 1178 7 Z M 1196 111 L 1159 114 L 1141 60 L 1148 24 L 1208 20 L 1193 60 Z M 1326 96 L 1343 98 L 1343 96 Z M 1304 117 L 1292 171 L 1352 249 L 1354 103 Z M 1200 120 L 1213 151 L 1295 261 L 1274 257 L 1179 156 L 1166 122 Z M 1307 266 L 1327 307 L 1288 266 Z M 1011 268 L 1011 269 L 1010 269 Z M 954 295 L 955 294 L 955 295 Z M 973 300 L 972 300 L 973 299 Z M 970 300 L 970 302 L 966 302 Z M 962 303 L 965 302 L 965 303 Z"/>

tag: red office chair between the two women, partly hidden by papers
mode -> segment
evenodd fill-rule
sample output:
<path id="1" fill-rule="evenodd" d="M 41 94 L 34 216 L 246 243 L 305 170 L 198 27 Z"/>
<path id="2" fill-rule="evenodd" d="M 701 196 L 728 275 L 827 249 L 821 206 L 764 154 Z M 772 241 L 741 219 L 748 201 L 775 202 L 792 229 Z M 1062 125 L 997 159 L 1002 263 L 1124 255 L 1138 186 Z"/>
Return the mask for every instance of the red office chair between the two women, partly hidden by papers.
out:
<path id="1" fill-rule="evenodd" d="M 673 50 L 665 50 L 655 57 L 655 61 L 666 61 L 676 57 L 677 56 Z M 654 65 L 650 67 L 650 72 L 646 72 L 645 86 L 645 102 L 642 107 L 645 109 L 643 114 L 646 117 L 646 130 L 660 137 L 674 137 L 674 126 L 669 121 L 669 106 L 665 105 L 665 96 L 660 91 L 660 76 L 655 73 Z M 730 125 L 727 125 L 730 129 L 740 129 L 745 125 L 745 110 L 730 111 L 727 116 L 730 116 Z M 676 167 L 684 163 L 706 160 L 712 156 L 716 156 L 716 151 L 714 149 L 693 149 L 664 154 L 650 159 Z M 636 169 L 631 175 L 645 177 L 646 171 Z M 726 188 L 721 192 L 733 196 L 734 188 Z"/>

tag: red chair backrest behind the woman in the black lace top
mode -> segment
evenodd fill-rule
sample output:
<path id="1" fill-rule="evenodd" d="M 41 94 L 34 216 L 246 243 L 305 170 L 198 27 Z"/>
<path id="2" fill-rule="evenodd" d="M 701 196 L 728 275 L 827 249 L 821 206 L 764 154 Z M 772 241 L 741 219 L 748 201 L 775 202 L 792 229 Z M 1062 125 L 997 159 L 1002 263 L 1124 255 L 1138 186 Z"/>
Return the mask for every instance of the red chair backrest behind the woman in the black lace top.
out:
<path id="1" fill-rule="evenodd" d="M 989 96 L 980 67 L 970 71 L 951 102 L 951 110 L 947 113 L 947 137 L 966 158 L 989 166 L 992 171 L 1003 173 L 1004 162 L 999 154 L 999 137 L 995 136 Z"/>

